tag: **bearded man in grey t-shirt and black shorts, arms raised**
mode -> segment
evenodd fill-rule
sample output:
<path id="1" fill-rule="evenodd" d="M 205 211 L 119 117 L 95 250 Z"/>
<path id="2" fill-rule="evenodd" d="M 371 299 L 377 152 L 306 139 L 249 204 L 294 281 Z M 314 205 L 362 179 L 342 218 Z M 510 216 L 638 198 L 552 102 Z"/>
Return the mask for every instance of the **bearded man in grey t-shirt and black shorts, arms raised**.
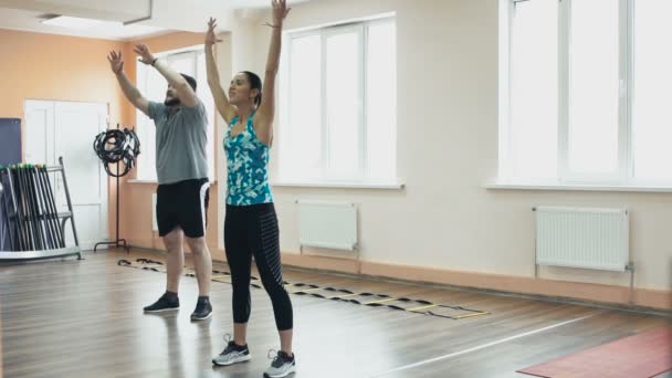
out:
<path id="1" fill-rule="evenodd" d="M 146 313 L 179 308 L 178 286 L 185 264 L 182 250 L 187 241 L 193 255 L 199 297 L 192 321 L 212 316 L 210 277 L 212 259 L 206 244 L 207 209 L 209 200 L 208 159 L 206 155 L 206 108 L 196 96 L 196 80 L 178 74 L 158 61 L 144 45 L 135 46 L 140 62 L 155 67 L 168 81 L 164 103 L 147 101 L 124 73 L 122 52 L 107 56 L 124 95 L 156 125 L 157 223 L 166 250 L 168 269 L 166 293 Z"/>

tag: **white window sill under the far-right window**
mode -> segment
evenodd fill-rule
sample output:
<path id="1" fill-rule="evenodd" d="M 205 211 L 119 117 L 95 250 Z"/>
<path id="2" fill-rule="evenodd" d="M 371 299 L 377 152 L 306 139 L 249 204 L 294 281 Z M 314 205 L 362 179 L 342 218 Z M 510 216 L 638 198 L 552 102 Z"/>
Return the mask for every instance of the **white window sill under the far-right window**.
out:
<path id="1" fill-rule="evenodd" d="M 633 191 L 672 193 L 672 186 L 651 185 L 609 185 L 609 183 L 569 183 L 558 181 L 492 181 L 483 185 L 485 189 L 503 190 L 574 190 L 574 191 Z"/>

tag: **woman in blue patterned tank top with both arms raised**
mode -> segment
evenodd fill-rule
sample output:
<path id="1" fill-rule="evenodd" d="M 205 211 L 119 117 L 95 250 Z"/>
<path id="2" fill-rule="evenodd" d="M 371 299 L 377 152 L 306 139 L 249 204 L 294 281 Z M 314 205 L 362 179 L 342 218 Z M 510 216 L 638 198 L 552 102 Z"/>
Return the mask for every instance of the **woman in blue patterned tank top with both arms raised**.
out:
<path id="1" fill-rule="evenodd" d="M 295 370 L 293 314 L 290 295 L 283 286 L 277 217 L 269 185 L 269 148 L 273 141 L 281 33 L 290 9 L 286 0 L 272 2 L 273 23 L 269 25 L 273 28 L 273 35 L 263 85 L 258 75 L 244 71 L 233 77 L 227 97 L 212 53 L 212 46 L 218 42 L 214 19 L 208 22 L 206 35 L 208 84 L 218 112 L 229 125 L 224 137 L 228 167 L 224 246 L 233 285 L 233 339 L 228 340 L 224 350 L 212 363 L 228 366 L 251 358 L 246 329 L 251 309 L 251 260 L 254 254 L 263 286 L 273 303 L 281 344 L 264 376 L 285 377 Z"/>

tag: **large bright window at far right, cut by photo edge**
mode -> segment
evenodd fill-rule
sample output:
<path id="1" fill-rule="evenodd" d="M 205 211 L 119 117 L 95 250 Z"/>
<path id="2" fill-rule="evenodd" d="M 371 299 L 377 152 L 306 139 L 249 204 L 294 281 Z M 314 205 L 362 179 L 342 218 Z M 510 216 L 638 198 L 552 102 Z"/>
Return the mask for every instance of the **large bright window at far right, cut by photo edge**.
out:
<path id="1" fill-rule="evenodd" d="M 507 1 L 501 179 L 672 183 L 672 1 Z"/>

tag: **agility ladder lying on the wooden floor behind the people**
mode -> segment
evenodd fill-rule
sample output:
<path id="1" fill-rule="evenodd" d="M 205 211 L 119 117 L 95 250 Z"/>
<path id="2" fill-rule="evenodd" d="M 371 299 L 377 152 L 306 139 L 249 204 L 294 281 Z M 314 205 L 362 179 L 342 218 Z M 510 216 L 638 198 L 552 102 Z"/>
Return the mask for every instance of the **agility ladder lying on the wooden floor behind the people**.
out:
<path id="1" fill-rule="evenodd" d="M 136 262 L 130 262 L 128 260 L 122 259 L 117 262 L 117 264 L 120 266 L 166 273 L 166 265 L 164 265 L 162 262 L 149 259 L 137 259 Z M 196 277 L 196 272 L 192 269 L 186 267 L 186 270 L 188 271 L 187 273 L 185 273 L 186 276 Z M 227 271 L 213 270 L 212 281 L 230 284 L 231 273 Z M 251 276 L 250 285 L 252 287 L 263 288 L 260 283 L 261 280 L 259 277 Z M 411 300 L 405 297 L 398 298 L 387 294 L 355 293 L 346 288 L 321 287 L 314 284 L 306 283 L 290 283 L 285 281 L 284 286 L 290 294 L 311 295 L 317 298 L 343 301 L 372 307 L 388 307 L 392 309 L 444 317 L 454 321 L 490 314 L 489 312 L 466 308 L 458 305 L 438 304 L 424 300 Z"/>

